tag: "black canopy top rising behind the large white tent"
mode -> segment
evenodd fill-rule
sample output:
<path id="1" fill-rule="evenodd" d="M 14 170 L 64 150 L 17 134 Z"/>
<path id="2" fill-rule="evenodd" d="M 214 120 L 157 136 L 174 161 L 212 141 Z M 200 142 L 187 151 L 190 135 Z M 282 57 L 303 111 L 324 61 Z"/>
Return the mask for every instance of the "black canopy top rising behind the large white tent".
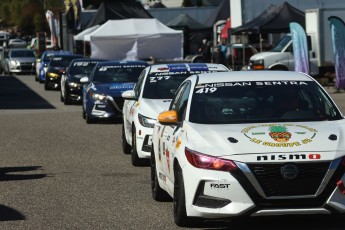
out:
<path id="1" fill-rule="evenodd" d="M 133 0 L 103 0 L 97 13 L 88 23 L 87 28 L 101 25 L 108 20 L 127 18 L 153 18 L 143 5 Z"/>

